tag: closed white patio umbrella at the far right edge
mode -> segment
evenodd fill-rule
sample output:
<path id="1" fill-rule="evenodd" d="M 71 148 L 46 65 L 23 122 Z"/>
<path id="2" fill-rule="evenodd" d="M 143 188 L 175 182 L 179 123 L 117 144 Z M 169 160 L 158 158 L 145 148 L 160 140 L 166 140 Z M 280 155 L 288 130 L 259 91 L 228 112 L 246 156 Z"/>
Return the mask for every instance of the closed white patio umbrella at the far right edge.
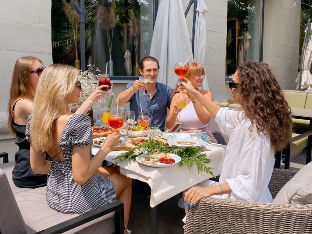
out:
<path id="1" fill-rule="evenodd" d="M 302 76 L 301 76 L 301 90 L 312 90 L 312 75 L 310 73 L 312 64 L 312 42 L 311 39 L 306 47 L 305 54 L 302 61 Z M 297 84 L 297 89 L 299 88 L 299 74 L 295 81 Z"/>

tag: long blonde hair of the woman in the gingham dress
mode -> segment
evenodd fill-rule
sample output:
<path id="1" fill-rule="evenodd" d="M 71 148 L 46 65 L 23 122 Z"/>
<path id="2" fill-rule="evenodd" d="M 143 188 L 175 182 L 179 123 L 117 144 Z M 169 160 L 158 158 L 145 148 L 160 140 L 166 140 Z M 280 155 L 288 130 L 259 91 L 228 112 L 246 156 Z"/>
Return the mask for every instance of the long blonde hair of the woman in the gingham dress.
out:
<path id="1" fill-rule="evenodd" d="M 52 64 L 42 72 L 34 99 L 30 136 L 32 148 L 44 152 L 56 145 L 56 119 L 68 108 L 66 96 L 75 89 L 79 70 Z"/>

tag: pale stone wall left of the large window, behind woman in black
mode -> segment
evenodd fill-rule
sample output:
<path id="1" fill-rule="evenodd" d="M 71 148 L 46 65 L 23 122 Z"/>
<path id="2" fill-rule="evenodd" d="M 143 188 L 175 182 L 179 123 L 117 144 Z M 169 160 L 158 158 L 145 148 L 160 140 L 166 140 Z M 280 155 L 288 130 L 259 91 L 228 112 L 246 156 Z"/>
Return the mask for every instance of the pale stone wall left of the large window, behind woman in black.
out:
<path id="1" fill-rule="evenodd" d="M 20 56 L 35 56 L 45 66 L 52 63 L 51 0 L 1 0 L 0 41 L 0 152 L 12 161 L 18 150 L 7 129 L 12 72 Z"/>

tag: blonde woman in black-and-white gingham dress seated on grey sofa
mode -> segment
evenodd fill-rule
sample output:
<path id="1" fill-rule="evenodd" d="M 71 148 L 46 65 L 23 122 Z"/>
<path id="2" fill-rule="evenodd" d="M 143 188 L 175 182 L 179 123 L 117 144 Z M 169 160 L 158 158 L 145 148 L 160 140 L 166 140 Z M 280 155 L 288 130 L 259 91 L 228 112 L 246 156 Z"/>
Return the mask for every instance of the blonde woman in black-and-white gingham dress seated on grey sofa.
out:
<path id="1" fill-rule="evenodd" d="M 52 209 L 82 214 L 117 198 L 124 203 L 127 227 L 131 179 L 121 175 L 118 167 L 100 167 L 119 144 L 120 133 L 110 134 L 92 157 L 90 118 L 69 110 L 69 104 L 77 103 L 82 92 L 78 73 L 72 66 L 53 64 L 40 77 L 26 127 L 31 168 L 35 173 L 49 174 L 46 199 Z M 45 159 L 45 152 L 50 161 Z"/>

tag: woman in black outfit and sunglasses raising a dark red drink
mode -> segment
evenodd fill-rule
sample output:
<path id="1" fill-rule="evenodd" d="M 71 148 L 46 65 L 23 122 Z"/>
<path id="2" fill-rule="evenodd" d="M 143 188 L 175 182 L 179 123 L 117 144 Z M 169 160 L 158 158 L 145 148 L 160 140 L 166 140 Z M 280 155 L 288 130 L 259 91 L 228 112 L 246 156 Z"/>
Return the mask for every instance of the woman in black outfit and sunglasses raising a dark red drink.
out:
<path id="1" fill-rule="evenodd" d="M 30 145 L 26 140 L 27 117 L 32 110 L 37 83 L 43 71 L 43 63 L 33 56 L 17 59 L 12 76 L 10 100 L 8 103 L 8 128 L 15 137 L 19 150 L 15 154 L 15 166 L 12 171 L 14 184 L 20 188 L 37 188 L 46 185 L 46 175 L 35 174 L 30 168 Z M 107 93 L 97 87 L 76 113 L 86 113 L 91 105 Z"/>

